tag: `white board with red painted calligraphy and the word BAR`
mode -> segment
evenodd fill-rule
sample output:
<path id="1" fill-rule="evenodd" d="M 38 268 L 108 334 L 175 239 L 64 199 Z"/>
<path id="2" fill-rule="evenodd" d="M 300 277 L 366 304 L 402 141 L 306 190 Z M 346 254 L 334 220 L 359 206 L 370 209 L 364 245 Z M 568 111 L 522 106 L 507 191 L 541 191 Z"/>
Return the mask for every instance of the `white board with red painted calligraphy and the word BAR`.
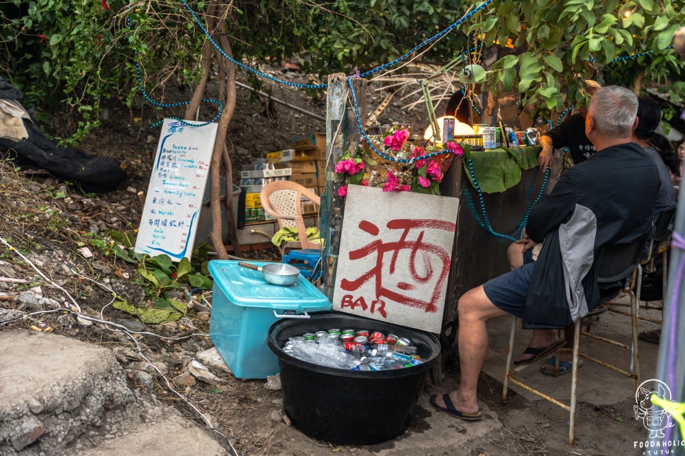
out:
<path id="1" fill-rule="evenodd" d="M 458 206 L 348 186 L 333 308 L 439 333 Z"/>

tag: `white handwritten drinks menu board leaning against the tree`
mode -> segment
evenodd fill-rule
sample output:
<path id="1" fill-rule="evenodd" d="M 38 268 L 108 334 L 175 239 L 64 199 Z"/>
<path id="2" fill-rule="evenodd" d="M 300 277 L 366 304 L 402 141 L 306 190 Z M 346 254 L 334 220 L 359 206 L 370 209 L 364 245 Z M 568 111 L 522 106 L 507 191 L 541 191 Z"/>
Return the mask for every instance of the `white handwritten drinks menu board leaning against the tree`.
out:
<path id="1" fill-rule="evenodd" d="M 164 119 L 136 252 L 190 259 L 216 140 L 216 123 Z"/>

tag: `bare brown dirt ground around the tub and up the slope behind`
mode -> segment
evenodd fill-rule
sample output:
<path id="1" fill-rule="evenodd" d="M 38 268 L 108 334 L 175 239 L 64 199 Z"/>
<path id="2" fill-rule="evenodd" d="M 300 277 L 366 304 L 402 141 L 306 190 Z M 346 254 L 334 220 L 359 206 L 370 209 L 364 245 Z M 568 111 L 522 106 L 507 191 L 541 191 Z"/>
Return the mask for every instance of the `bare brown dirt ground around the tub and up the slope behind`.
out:
<path id="1" fill-rule="evenodd" d="M 292 76 L 292 75 L 290 75 Z M 297 75 L 294 76 L 297 78 Z M 295 80 L 295 79 L 294 79 Z M 210 84 L 210 96 L 216 86 Z M 178 92 L 177 99 L 166 99 L 166 102 L 182 101 L 190 98 L 190 92 Z M 303 107 L 321 116 L 325 116 L 325 98 L 312 99 L 301 92 L 289 88 L 273 88 L 273 96 L 284 99 L 290 103 Z M 373 94 L 369 101 L 369 110 L 373 110 L 383 99 L 382 92 Z M 201 110 L 201 118 L 210 118 L 210 113 Z M 436 111 L 442 109 L 440 105 Z M 87 231 L 92 225 L 104 225 L 107 229 L 121 229 L 133 232 L 140 223 L 141 203 L 136 195 L 139 190 L 147 190 L 149 173 L 151 171 L 152 157 L 158 141 L 158 131 L 150 131 L 145 127 L 160 118 L 160 113 L 153 110 L 148 104 L 140 104 L 138 107 L 127 110 L 121 105 L 110 104 L 107 106 L 108 121 L 103 121 L 103 127 L 91 134 L 80 146 L 95 155 L 108 155 L 115 157 L 127 170 L 129 179 L 123 183 L 119 190 L 108 194 L 88 198 L 92 201 L 86 204 L 82 200 L 77 201 L 77 207 L 70 207 L 68 202 L 52 201 L 52 205 L 58 205 L 64 212 L 75 212 L 77 216 L 69 220 L 66 229 L 72 229 L 74 233 Z M 181 112 L 164 112 L 166 115 L 179 115 Z M 142 118 L 142 121 L 140 119 Z M 421 107 L 412 112 L 406 112 L 393 103 L 379 116 L 380 123 L 413 123 L 414 125 L 427 124 L 426 116 Z M 292 112 L 281 105 L 269 105 L 264 99 L 250 100 L 247 90 L 238 88 L 238 105 L 234 119 L 229 127 L 232 162 L 234 166 L 234 178 L 239 173 L 240 166 L 251 162 L 253 157 L 260 157 L 269 151 L 280 150 L 288 147 L 289 140 L 301 134 L 325 131 L 325 125 L 314 118 Z M 9 179 L 14 179 L 8 176 Z M 34 188 L 29 189 L 36 194 L 51 192 L 51 185 L 59 185 L 58 182 L 48 181 L 45 176 L 29 176 L 34 180 Z M 48 190 L 46 190 L 48 188 Z M 84 209 L 90 207 L 90 210 Z M 36 222 L 38 223 L 38 222 Z M 102 227 L 101 227 L 102 228 Z M 53 239 L 56 235 L 51 234 Z M 75 234 L 74 236 L 77 236 Z M 62 235 L 60 248 L 66 251 L 75 251 L 75 246 L 69 236 Z M 56 241 L 55 241 L 56 242 Z M 253 259 L 262 259 L 277 255 L 277 251 L 256 251 L 247 253 Z M 112 277 L 111 285 L 119 294 L 126 296 L 131 302 L 142 301 L 142 289 L 131 283 L 136 272 L 127 264 L 114 262 L 112 257 L 104 257 L 96 253 L 94 259 L 86 262 L 79 259 L 81 264 L 93 273 L 93 278 L 102 279 Z M 84 263 L 85 262 L 85 263 Z M 59 260 L 53 259 L 52 267 L 58 267 Z M 97 268 L 93 265 L 96 264 Z M 15 266 L 16 267 L 16 266 Z M 21 268 L 21 266 L 19 266 Z M 125 279 L 125 273 L 131 279 Z M 18 292 L 18 288 L 5 287 L 6 293 Z M 100 310 L 110 301 L 108 292 L 97 286 L 79 290 L 83 295 L 83 307 L 86 312 L 98 315 Z M 112 307 L 105 308 L 105 318 L 112 320 L 127 319 Z M 66 317 L 66 318 L 65 318 Z M 189 320 L 197 327 L 198 333 L 208 333 L 208 322 L 190 315 Z M 76 337 L 88 342 L 103 344 L 112 348 L 116 346 L 130 347 L 127 338 L 117 335 L 112 331 L 98 327 L 80 327 L 69 316 L 47 315 L 40 319 L 43 326 L 54 327 L 55 331 Z M 36 322 L 32 322 L 34 324 Z M 18 323 L 16 325 L 28 325 Z M 149 326 L 149 330 L 163 335 L 178 335 L 181 329 L 173 325 Z M 208 337 L 195 337 L 188 342 L 175 344 L 165 342 L 150 336 L 139 336 L 140 341 L 149 353 L 158 356 L 174 357 L 178 353 L 196 352 L 212 346 Z M 121 359 L 120 359 L 121 361 Z M 127 367 L 126 363 L 123 363 Z M 173 369 L 173 363 L 171 364 Z M 175 372 L 171 370 L 169 376 Z M 447 364 L 445 381 L 442 385 L 427 385 L 422 394 L 434 394 L 445 392 L 456 387 L 458 382 L 458 367 L 454 359 Z M 134 376 L 129 377 L 133 388 L 145 389 L 145 385 L 136 383 Z M 154 394 L 160 400 L 173 403 L 188 418 L 192 415 L 188 409 L 163 388 L 160 379 L 155 380 Z M 577 445 L 566 444 L 568 432 L 568 416 L 565 411 L 543 403 L 543 401 L 530 403 L 521 396 L 513 394 L 506 405 L 501 404 L 501 383 L 486 375 L 482 375 L 479 390 L 482 401 L 495 412 L 503 429 L 479 442 L 460 448 L 444 448 L 441 453 L 427 453 L 429 455 L 638 455 L 641 452 L 634 450 L 633 440 L 635 436 L 641 436 L 645 429 L 640 422 L 632 418 L 632 401 L 616 404 L 612 407 L 595 407 L 590 404 L 580 403 L 578 410 Z M 192 402 L 208 412 L 215 421 L 216 427 L 226 433 L 232 440 L 240 454 L 245 455 L 323 455 L 328 453 L 350 453 L 356 455 L 377 454 L 382 451 L 390 451 L 393 454 L 395 441 L 379 446 L 336 446 L 326 442 L 318 442 L 307 438 L 296 429 L 288 427 L 282 420 L 273 418 L 273 412 L 280 408 L 282 397 L 280 392 L 273 392 L 264 388 L 263 380 L 240 381 L 232 376 L 227 377 L 225 383 L 217 386 L 199 383 L 192 388 L 186 388 L 186 396 Z M 437 412 L 417 406 L 414 411 L 412 426 L 408 433 L 400 439 L 411 438 L 427 431 L 425 418 Z M 445 416 L 445 420 L 452 420 Z M 457 421 L 457 420 L 455 420 Z M 455 432 L 460 427 L 468 426 L 462 422 L 455 422 Z M 397 453 L 400 454 L 400 453 Z M 408 453 L 401 453 L 408 454 Z"/>

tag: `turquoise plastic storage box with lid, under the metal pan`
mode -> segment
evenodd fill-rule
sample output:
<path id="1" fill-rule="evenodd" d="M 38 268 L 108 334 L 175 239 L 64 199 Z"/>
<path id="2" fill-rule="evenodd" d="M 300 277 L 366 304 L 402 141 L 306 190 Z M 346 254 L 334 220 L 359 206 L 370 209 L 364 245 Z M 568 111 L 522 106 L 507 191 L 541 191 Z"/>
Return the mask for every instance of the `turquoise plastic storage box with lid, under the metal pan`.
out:
<path id="1" fill-rule="evenodd" d="M 266 346 L 276 320 L 331 309 L 325 294 L 302 275 L 283 287 L 266 283 L 262 273 L 234 261 L 211 261 L 209 270 L 214 279 L 210 338 L 239 379 L 265 379 L 278 372 L 278 358 Z"/>

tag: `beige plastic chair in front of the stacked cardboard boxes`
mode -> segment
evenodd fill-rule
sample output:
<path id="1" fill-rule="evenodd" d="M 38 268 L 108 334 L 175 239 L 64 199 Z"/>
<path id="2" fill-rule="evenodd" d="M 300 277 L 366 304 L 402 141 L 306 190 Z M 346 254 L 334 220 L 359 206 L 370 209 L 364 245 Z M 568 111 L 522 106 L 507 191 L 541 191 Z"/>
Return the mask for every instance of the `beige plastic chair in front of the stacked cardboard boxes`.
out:
<path id="1" fill-rule="evenodd" d="M 283 251 L 286 249 L 316 249 L 321 250 L 321 242 L 307 239 L 302 210 L 300 208 L 301 197 L 321 205 L 321 198 L 301 186 L 299 183 L 290 181 L 275 181 L 262 188 L 260 200 L 264 212 L 278 220 L 279 227 L 297 228 L 300 240 L 298 242 L 286 242 L 282 244 Z"/>

